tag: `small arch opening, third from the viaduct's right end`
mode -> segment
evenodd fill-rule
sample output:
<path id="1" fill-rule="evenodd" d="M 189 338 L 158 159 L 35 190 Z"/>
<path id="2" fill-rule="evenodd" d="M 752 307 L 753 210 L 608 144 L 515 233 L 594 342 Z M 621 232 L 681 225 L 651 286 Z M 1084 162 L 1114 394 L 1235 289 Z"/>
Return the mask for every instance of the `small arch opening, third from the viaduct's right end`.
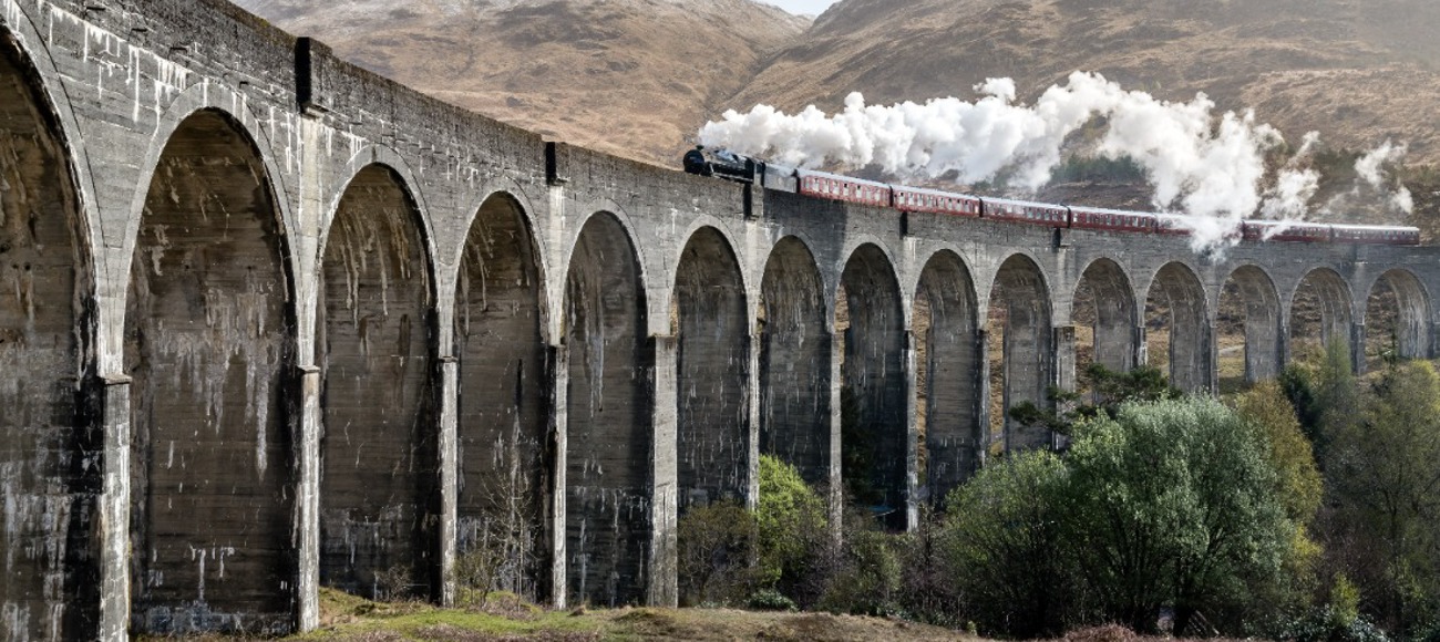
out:
<path id="1" fill-rule="evenodd" d="M 1280 374 L 1280 295 L 1260 268 L 1230 273 L 1215 312 L 1220 390 L 1234 392 Z"/>

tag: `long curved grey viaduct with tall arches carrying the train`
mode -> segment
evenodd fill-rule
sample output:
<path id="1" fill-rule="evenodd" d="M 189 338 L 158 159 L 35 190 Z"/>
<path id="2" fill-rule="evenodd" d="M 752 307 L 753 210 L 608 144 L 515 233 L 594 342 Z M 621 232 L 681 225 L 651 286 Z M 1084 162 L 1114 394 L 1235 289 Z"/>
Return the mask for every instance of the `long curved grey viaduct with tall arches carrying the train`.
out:
<path id="1" fill-rule="evenodd" d="M 1214 389 L 1223 309 L 1248 379 L 1364 364 L 1375 309 L 1434 351 L 1434 248 L 904 217 L 549 143 L 219 0 L 0 9 L 6 639 L 310 629 L 320 586 L 452 599 L 481 546 L 554 605 L 672 603 L 677 515 L 760 453 L 903 528 L 1047 445 L 992 407 L 1077 354 Z"/>

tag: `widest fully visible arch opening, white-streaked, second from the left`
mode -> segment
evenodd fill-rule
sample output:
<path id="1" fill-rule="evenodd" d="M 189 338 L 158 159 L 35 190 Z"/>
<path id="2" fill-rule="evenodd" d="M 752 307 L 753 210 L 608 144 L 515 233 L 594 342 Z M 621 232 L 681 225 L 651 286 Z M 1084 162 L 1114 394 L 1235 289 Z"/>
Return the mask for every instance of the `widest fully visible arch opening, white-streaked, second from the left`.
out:
<path id="1" fill-rule="evenodd" d="M 131 261 L 131 618 L 151 633 L 282 632 L 295 609 L 294 314 L 259 151 L 222 112 L 186 118 Z"/>

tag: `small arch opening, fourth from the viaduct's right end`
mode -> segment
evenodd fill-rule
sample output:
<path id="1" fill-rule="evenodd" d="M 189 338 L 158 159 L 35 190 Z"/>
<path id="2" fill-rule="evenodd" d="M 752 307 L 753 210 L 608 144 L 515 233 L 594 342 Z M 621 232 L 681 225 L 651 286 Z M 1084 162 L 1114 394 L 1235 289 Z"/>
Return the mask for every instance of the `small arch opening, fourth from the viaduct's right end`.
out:
<path id="1" fill-rule="evenodd" d="M 1200 276 L 1185 263 L 1165 263 L 1145 299 L 1148 363 L 1168 370 L 1176 389 L 1210 389 L 1210 314 Z"/>

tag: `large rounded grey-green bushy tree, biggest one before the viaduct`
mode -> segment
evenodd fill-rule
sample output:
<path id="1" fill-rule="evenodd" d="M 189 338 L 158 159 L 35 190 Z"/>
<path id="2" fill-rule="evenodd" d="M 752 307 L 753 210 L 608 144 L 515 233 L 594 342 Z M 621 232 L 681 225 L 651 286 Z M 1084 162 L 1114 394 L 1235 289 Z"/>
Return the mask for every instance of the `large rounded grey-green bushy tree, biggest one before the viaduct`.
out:
<path id="1" fill-rule="evenodd" d="M 1068 466 L 1070 533 L 1109 618 L 1153 630 L 1169 605 L 1181 633 L 1280 570 L 1295 525 L 1256 430 L 1220 402 L 1122 404 L 1077 425 Z"/>

